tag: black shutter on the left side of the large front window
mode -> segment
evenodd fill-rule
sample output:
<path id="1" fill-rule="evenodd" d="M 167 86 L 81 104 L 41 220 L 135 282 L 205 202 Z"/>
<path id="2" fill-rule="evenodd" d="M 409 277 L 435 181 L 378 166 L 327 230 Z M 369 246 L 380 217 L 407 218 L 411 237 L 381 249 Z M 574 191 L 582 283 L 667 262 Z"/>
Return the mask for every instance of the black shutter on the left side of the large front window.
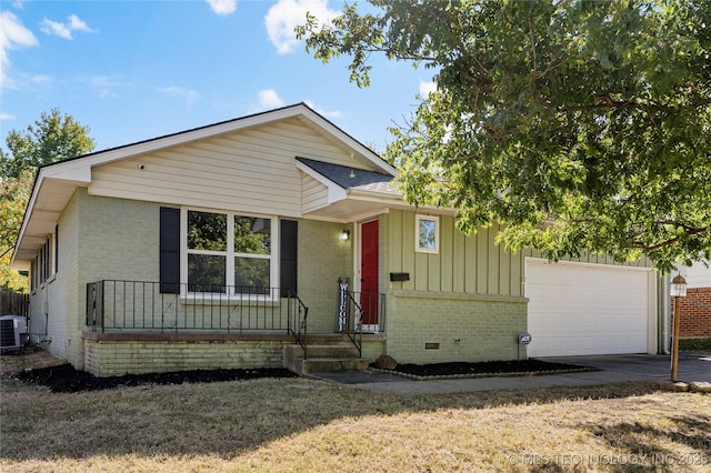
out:
<path id="1" fill-rule="evenodd" d="M 180 209 L 160 208 L 160 292 L 180 292 Z"/>

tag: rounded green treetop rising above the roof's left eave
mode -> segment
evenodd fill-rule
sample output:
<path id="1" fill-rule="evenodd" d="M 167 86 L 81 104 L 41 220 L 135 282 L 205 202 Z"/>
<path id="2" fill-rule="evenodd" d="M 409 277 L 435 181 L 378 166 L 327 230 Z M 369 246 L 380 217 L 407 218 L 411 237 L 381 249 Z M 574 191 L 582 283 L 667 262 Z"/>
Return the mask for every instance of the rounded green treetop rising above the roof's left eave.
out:
<path id="1" fill-rule="evenodd" d="M 68 158 L 93 151 L 96 142 L 89 138 L 89 127 L 82 127 L 59 109 L 42 112 L 40 120 L 28 125 L 26 132 L 10 130 L 6 144 L 10 154 L 0 151 L 2 179 L 19 178 L 24 169 L 36 170 Z"/>

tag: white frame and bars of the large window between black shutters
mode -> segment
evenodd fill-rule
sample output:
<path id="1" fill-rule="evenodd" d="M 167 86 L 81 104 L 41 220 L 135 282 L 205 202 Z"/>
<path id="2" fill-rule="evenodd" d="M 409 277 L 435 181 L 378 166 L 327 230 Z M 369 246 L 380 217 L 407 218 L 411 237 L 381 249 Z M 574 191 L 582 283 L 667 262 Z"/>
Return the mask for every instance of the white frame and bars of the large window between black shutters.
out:
<path id="1" fill-rule="evenodd" d="M 188 249 L 188 212 L 204 212 L 204 213 L 220 213 L 227 215 L 227 251 L 211 251 L 211 250 L 189 250 Z M 234 291 L 234 258 L 254 258 L 254 259 L 268 259 L 269 262 L 269 288 L 270 294 L 250 294 L 253 299 L 263 300 L 277 300 L 279 299 L 279 220 L 276 215 L 262 215 L 250 212 L 227 212 L 222 210 L 201 209 L 192 207 L 183 207 L 180 209 L 180 295 L 184 300 L 204 301 L 204 295 L 210 294 L 208 300 L 214 299 L 233 299 L 234 296 L 248 294 L 236 293 Z M 259 219 L 268 219 L 271 222 L 271 253 L 254 254 L 254 253 L 239 253 L 234 251 L 234 217 L 251 217 Z M 207 254 L 218 255 L 226 258 L 226 278 L 224 283 L 227 291 L 224 293 L 210 293 L 210 292 L 188 292 L 188 254 Z"/>

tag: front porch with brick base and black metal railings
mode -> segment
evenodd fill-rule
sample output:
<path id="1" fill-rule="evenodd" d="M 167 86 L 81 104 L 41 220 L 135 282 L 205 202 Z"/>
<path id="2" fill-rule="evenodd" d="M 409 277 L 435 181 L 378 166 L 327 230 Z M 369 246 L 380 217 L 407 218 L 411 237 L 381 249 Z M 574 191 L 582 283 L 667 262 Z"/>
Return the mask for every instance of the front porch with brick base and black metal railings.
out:
<path id="1" fill-rule="evenodd" d="M 293 291 L 211 288 L 211 292 L 196 292 L 187 284 L 174 286 L 179 290 L 167 293 L 158 282 L 87 284 L 83 369 L 98 376 L 217 368 L 291 369 L 286 356 L 290 362 L 293 353 L 316 358 L 317 348 L 323 345 L 350 346 L 365 361 L 384 352 L 384 294 L 340 290 L 330 315 L 333 330 L 311 333 L 309 318 L 313 314 Z M 363 332 L 362 321 L 372 320 L 367 310 L 378 311 L 372 333 Z"/>

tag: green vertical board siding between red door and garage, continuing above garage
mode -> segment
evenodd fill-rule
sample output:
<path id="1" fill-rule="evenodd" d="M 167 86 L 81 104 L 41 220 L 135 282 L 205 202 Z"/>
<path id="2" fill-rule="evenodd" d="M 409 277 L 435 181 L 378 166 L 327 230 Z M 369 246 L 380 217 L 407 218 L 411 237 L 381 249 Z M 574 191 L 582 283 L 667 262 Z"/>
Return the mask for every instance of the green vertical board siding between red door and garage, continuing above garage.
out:
<path id="1" fill-rule="evenodd" d="M 535 250 L 508 251 L 497 244 L 500 225 L 481 228 L 465 235 L 455 227 L 453 217 L 439 215 L 440 251 L 437 254 L 414 251 L 415 212 L 391 210 L 388 222 L 388 272 L 410 273 L 410 280 L 392 283 L 393 288 L 423 292 L 452 292 L 523 296 L 525 259 L 541 258 Z M 583 254 L 575 261 L 593 264 L 622 264 L 607 255 Z M 650 266 L 649 261 L 624 263 Z M 387 274 L 385 274 L 387 275 Z"/>

